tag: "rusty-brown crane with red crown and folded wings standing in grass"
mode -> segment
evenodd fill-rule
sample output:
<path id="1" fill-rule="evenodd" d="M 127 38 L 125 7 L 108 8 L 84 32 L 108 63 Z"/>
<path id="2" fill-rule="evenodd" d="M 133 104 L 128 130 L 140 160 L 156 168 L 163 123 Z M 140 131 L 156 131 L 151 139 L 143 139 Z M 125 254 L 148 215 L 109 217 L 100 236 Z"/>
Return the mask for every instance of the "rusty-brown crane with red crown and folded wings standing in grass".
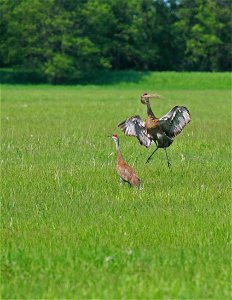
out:
<path id="1" fill-rule="evenodd" d="M 120 177 L 121 183 L 127 182 L 130 186 L 136 186 L 138 188 L 141 188 L 141 181 L 139 177 L 136 175 L 134 169 L 125 162 L 125 160 L 122 157 L 121 149 L 119 146 L 119 138 L 117 134 L 114 134 L 112 136 L 112 139 L 114 140 L 116 144 L 116 150 L 117 150 L 117 164 L 116 169 L 118 172 L 118 175 Z"/>

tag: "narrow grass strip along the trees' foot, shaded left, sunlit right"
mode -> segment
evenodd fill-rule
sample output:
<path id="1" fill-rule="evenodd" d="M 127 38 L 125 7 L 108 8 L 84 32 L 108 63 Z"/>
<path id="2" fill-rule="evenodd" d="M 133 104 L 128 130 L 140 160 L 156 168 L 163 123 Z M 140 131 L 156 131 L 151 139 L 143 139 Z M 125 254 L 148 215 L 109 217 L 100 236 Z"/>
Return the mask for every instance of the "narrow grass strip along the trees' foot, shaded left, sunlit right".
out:
<path id="1" fill-rule="evenodd" d="M 73 75 L 75 76 L 75 75 Z M 73 77 L 52 83 L 38 71 L 0 69 L 0 82 L 8 84 L 54 84 L 54 85 L 130 85 L 146 89 L 204 90 L 231 89 L 229 72 L 152 72 L 152 71 L 94 71 L 82 78 Z"/>

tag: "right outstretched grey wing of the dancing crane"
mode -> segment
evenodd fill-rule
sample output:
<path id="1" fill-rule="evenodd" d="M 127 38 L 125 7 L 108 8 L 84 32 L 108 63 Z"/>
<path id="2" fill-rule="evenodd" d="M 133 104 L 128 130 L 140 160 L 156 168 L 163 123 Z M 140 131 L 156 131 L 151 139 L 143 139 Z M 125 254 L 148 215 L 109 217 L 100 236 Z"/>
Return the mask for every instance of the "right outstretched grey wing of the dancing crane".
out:
<path id="1" fill-rule="evenodd" d="M 175 137 L 191 121 L 188 109 L 175 106 L 165 116 L 159 119 L 159 126 L 169 137 Z"/>

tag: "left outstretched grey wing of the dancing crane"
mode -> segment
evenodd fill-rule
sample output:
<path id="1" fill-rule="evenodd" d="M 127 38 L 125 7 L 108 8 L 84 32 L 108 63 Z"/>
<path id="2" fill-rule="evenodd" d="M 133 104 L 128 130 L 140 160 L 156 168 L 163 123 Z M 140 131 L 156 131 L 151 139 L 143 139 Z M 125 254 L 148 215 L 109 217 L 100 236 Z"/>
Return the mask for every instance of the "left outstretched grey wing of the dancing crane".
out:
<path id="1" fill-rule="evenodd" d="M 153 139 L 148 134 L 145 127 L 145 122 L 140 118 L 140 116 L 128 118 L 122 123 L 118 124 L 118 127 L 122 129 L 125 135 L 137 137 L 140 144 L 147 148 L 153 144 Z"/>

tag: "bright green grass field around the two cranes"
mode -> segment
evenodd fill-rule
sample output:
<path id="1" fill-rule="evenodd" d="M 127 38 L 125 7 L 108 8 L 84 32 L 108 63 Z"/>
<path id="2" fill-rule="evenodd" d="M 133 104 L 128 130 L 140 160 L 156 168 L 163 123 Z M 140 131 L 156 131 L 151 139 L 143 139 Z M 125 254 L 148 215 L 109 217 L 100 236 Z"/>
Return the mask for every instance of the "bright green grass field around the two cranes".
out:
<path id="1" fill-rule="evenodd" d="M 231 298 L 230 74 L 133 76 L 2 85 L 2 299 Z M 117 129 L 144 91 L 191 112 L 171 170 Z M 119 185 L 115 132 L 142 191 Z"/>

